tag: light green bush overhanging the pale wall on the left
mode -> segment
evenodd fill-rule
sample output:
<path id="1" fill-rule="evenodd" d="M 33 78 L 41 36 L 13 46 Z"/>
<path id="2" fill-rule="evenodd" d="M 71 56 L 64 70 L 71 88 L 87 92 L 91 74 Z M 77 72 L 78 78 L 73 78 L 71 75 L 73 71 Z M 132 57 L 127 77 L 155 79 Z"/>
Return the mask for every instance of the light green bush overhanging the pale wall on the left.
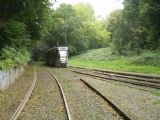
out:
<path id="1" fill-rule="evenodd" d="M 15 49 L 6 47 L 2 49 L 0 69 L 8 69 L 26 64 L 30 60 L 30 54 L 25 48 Z"/>

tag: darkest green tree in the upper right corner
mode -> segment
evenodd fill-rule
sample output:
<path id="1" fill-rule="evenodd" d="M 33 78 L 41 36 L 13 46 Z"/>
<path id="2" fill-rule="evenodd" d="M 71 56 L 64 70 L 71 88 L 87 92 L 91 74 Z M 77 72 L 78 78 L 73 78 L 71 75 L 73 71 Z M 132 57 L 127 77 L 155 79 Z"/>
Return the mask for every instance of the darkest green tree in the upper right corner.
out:
<path id="1" fill-rule="evenodd" d="M 152 50 L 160 48 L 160 1 L 141 0 L 139 14 L 145 23 L 146 46 Z"/>

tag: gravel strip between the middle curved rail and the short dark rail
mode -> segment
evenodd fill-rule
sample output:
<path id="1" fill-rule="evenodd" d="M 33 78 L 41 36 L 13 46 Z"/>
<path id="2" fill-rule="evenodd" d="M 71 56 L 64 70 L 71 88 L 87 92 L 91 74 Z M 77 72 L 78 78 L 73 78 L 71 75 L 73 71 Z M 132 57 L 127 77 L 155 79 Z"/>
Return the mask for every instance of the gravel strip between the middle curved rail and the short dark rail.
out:
<path id="1" fill-rule="evenodd" d="M 60 80 L 73 120 L 120 120 L 108 103 L 67 68 L 48 68 Z"/>

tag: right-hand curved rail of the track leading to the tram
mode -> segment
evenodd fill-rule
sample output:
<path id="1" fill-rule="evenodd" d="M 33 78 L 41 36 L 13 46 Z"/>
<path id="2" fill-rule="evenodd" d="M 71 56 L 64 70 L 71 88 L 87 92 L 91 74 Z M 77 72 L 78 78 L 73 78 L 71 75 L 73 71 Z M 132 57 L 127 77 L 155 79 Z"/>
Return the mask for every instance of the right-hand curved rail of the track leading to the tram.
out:
<path id="1" fill-rule="evenodd" d="M 48 73 L 56 80 L 56 83 L 58 84 L 58 87 L 60 89 L 60 92 L 61 92 L 61 95 L 62 95 L 62 98 L 63 98 L 65 110 L 66 110 L 66 113 L 67 113 L 67 118 L 68 118 L 68 120 L 72 120 L 72 117 L 71 117 L 71 114 L 70 114 L 70 111 L 69 111 L 69 107 L 68 107 L 68 104 L 67 104 L 67 100 L 66 100 L 66 97 L 64 95 L 64 91 L 61 87 L 61 84 L 60 84 L 59 80 L 49 70 L 46 69 L 46 71 L 48 71 Z"/>

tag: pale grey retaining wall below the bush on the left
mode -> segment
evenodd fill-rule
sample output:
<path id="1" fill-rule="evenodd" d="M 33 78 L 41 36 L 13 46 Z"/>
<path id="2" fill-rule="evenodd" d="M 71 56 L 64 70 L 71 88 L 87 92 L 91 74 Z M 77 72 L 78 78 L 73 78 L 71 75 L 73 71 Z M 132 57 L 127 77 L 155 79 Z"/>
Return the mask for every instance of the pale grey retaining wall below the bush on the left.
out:
<path id="1" fill-rule="evenodd" d="M 0 71 L 0 90 L 7 89 L 24 71 L 24 66 Z"/>

